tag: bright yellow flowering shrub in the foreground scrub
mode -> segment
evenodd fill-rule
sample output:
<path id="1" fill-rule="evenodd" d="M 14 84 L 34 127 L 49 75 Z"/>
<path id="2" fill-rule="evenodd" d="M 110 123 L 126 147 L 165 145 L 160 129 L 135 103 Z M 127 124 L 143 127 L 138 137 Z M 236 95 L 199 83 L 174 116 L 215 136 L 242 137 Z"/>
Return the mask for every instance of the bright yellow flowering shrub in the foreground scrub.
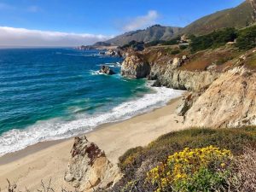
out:
<path id="1" fill-rule="evenodd" d="M 230 150 L 184 148 L 148 172 L 156 192 L 224 190 L 232 169 Z"/>

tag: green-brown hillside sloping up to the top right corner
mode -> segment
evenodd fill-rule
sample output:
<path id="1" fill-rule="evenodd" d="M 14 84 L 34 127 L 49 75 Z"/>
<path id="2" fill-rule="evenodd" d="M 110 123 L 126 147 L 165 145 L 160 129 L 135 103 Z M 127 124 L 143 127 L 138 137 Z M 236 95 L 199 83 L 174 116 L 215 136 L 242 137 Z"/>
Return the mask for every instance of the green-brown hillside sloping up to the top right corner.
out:
<path id="1" fill-rule="evenodd" d="M 224 27 L 241 28 L 255 21 L 256 0 L 247 0 L 233 9 L 224 9 L 195 20 L 181 33 L 202 35 Z"/>

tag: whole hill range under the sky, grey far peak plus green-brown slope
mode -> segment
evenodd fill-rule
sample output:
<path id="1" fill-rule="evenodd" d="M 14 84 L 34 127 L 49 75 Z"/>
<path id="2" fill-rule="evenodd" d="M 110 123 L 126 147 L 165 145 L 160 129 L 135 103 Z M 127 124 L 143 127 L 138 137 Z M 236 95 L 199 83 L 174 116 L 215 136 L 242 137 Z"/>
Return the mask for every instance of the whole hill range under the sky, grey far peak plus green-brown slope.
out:
<path id="1" fill-rule="evenodd" d="M 105 44 L 124 45 L 135 40 L 148 43 L 154 40 L 170 40 L 182 34 L 204 35 L 224 27 L 241 28 L 256 21 L 256 0 L 246 0 L 235 8 L 224 9 L 195 20 L 189 26 L 150 26 L 144 30 L 125 32 L 105 41 Z M 96 43 L 100 44 L 100 43 Z M 102 44 L 102 43 L 101 43 Z"/>

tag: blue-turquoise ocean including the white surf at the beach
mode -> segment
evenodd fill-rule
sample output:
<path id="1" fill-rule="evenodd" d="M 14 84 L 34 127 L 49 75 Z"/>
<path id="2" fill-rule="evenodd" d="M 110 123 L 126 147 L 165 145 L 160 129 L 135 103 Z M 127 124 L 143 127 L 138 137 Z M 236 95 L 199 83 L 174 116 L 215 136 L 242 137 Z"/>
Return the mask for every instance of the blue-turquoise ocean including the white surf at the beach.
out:
<path id="1" fill-rule="evenodd" d="M 181 90 L 120 75 L 96 50 L 0 49 L 0 155 L 77 136 L 166 105 Z M 117 73 L 98 73 L 101 65 Z"/>

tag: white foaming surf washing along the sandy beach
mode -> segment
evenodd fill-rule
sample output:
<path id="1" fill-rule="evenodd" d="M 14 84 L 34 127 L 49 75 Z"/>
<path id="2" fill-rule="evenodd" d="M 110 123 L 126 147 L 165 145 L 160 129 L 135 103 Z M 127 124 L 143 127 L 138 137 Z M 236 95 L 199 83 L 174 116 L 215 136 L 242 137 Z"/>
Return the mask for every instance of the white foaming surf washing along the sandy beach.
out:
<path id="1" fill-rule="evenodd" d="M 7 131 L 0 137 L 0 155 L 15 152 L 38 142 L 73 137 L 91 131 L 97 125 L 104 123 L 129 119 L 139 113 L 164 106 L 170 99 L 181 96 L 183 93 L 182 90 L 165 87 L 152 89 L 154 90 L 152 93 L 124 102 L 110 109 L 108 113 L 78 114 L 75 119 L 70 121 L 62 119 L 38 121 L 24 130 Z"/>

